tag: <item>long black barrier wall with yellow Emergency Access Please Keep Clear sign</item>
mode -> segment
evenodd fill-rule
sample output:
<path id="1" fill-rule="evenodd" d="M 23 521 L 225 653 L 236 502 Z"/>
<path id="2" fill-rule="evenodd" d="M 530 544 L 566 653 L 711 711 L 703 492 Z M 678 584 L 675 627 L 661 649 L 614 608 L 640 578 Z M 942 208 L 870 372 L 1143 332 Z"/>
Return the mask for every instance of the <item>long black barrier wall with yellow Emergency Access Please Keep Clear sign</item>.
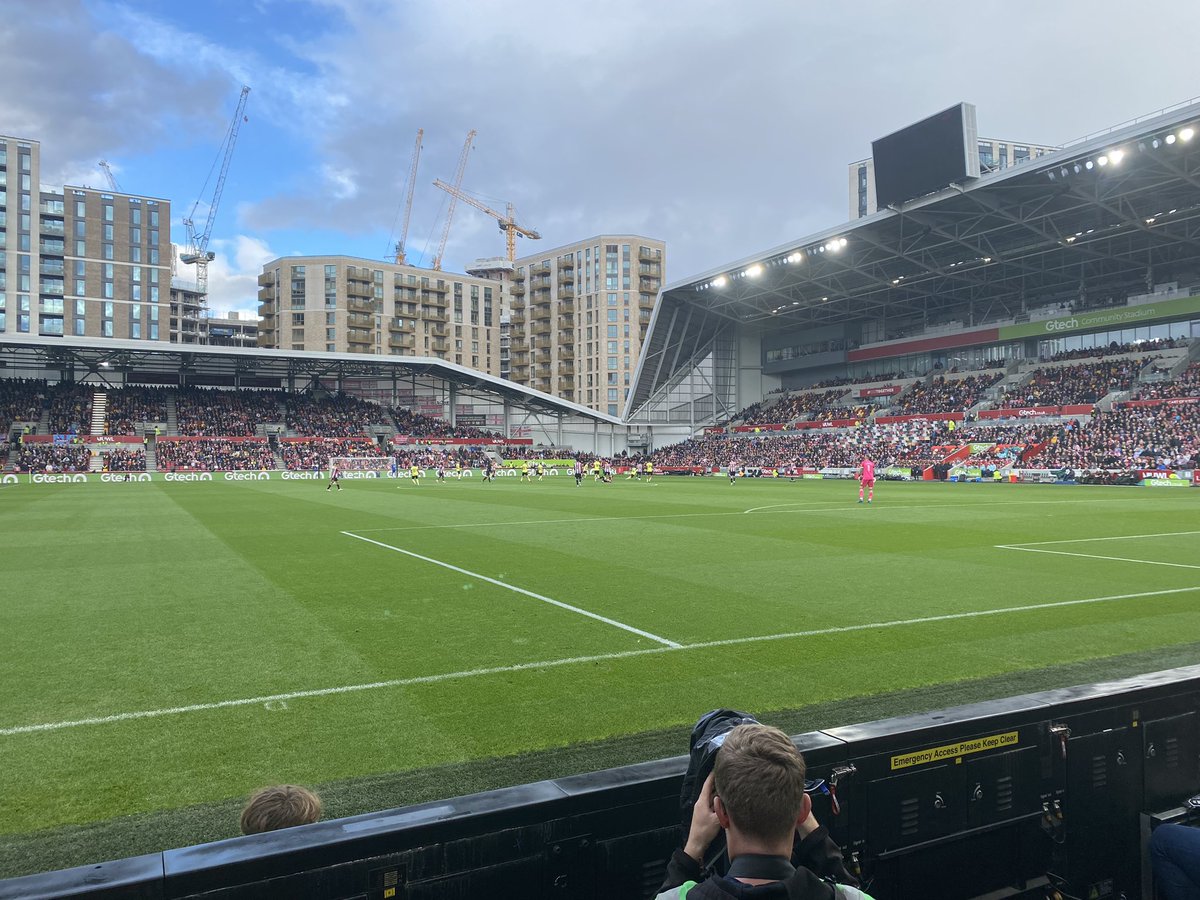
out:
<path id="1" fill-rule="evenodd" d="M 1200 792 L 1200 666 L 796 737 L 877 900 L 1152 900 L 1147 823 Z M 680 730 L 680 744 L 686 733 Z M 685 757 L 0 882 L 22 898 L 653 896 Z"/>

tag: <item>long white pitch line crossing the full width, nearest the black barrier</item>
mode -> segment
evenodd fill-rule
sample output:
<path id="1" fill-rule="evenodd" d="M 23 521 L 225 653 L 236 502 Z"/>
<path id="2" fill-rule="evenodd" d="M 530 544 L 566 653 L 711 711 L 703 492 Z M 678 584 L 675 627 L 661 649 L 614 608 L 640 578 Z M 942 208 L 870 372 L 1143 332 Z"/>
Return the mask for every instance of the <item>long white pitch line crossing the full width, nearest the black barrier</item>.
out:
<path id="1" fill-rule="evenodd" d="M 1009 613 L 1033 612 L 1038 610 L 1052 610 L 1061 606 L 1080 606 L 1084 604 L 1099 604 L 1112 600 L 1135 600 L 1144 596 L 1164 596 L 1169 594 L 1186 594 L 1200 592 L 1200 586 L 1192 588 L 1170 588 L 1168 590 L 1147 590 L 1140 594 L 1115 594 L 1112 596 L 1092 596 L 1081 600 L 1060 600 L 1048 604 L 1031 604 L 1028 606 L 1008 606 L 1001 610 L 976 610 L 972 612 L 952 612 L 943 616 L 923 616 L 914 619 L 895 619 L 892 622 L 872 622 L 865 625 L 840 625 L 835 628 L 814 629 L 811 631 L 790 631 L 782 635 L 756 635 L 752 637 L 728 637 L 720 641 L 704 641 L 701 643 L 677 644 L 674 647 L 649 647 L 641 650 L 619 650 L 616 653 L 600 653 L 592 656 L 569 656 L 565 659 L 544 660 L 540 662 L 516 662 L 510 666 L 491 666 L 488 668 L 469 668 L 462 672 L 443 672 L 431 676 L 414 676 L 412 678 L 394 678 L 386 682 L 368 682 L 366 684 L 347 684 L 337 688 L 318 688 L 306 691 L 290 691 L 288 694 L 270 694 L 262 697 L 245 697 L 241 700 L 222 700 L 214 703 L 193 703 L 186 707 L 169 707 L 166 709 L 143 709 L 136 713 L 116 713 L 114 715 L 92 716 L 90 719 L 73 719 L 58 722 L 42 722 L 38 725 L 16 725 L 0 728 L 0 737 L 14 734 L 32 734 L 46 731 L 61 731 L 64 728 L 79 728 L 88 725 L 110 725 L 113 722 L 133 721 L 137 719 L 158 719 L 166 715 L 181 715 L 182 713 L 203 713 L 212 709 L 229 709 L 233 707 L 258 706 L 272 701 L 302 700 L 306 697 L 329 697 L 337 694 L 355 694 L 359 691 L 379 690 L 385 688 L 407 688 L 416 684 L 438 684 L 440 682 L 461 680 L 464 678 L 478 678 L 481 676 L 505 674 L 509 672 L 526 672 L 529 670 L 558 668 L 587 662 L 608 662 L 619 659 L 636 656 L 649 656 L 660 653 L 676 653 L 678 650 L 704 650 L 715 647 L 732 647 L 748 643 L 766 643 L 768 641 L 786 641 L 799 637 L 820 637 L 822 635 L 838 635 L 848 631 L 869 631 L 889 628 L 901 628 L 905 625 L 923 625 L 934 622 L 953 622 L 955 619 L 973 619 L 983 616 L 1006 616 Z"/>

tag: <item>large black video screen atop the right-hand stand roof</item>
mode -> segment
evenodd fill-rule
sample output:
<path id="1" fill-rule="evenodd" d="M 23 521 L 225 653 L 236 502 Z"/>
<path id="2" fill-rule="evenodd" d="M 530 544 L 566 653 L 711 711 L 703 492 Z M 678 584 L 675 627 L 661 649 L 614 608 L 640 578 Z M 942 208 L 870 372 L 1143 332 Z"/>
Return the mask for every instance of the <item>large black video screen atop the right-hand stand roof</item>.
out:
<path id="1" fill-rule="evenodd" d="M 974 107 L 959 103 L 871 142 L 880 209 L 979 176 Z"/>

